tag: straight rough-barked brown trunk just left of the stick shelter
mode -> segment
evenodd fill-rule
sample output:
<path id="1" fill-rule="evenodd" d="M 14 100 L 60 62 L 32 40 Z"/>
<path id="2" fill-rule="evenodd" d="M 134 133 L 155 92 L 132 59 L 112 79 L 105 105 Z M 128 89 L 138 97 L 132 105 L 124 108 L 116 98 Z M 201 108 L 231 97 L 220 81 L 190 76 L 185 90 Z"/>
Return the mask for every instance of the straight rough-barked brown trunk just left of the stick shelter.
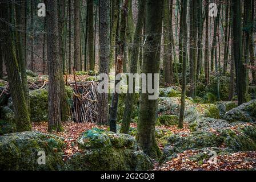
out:
<path id="1" fill-rule="evenodd" d="M 60 61 L 58 36 L 58 2 L 46 0 L 47 60 L 49 61 L 49 125 L 48 131 L 61 131 Z"/>

